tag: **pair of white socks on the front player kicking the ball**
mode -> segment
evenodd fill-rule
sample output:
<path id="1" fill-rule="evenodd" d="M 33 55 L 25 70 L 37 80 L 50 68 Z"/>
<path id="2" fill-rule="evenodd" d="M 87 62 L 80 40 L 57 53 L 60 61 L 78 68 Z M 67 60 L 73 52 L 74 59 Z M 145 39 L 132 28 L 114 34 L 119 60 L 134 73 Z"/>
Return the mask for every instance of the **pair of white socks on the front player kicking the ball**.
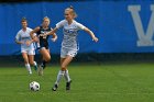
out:
<path id="1" fill-rule="evenodd" d="M 56 80 L 55 84 L 58 84 L 59 83 L 59 81 L 61 81 L 61 79 L 62 79 L 63 76 L 65 77 L 65 79 L 66 79 L 67 82 L 69 82 L 72 80 L 70 77 L 69 77 L 68 70 L 66 70 L 66 71 L 59 70 L 58 71 L 58 75 L 57 75 L 57 80 Z"/>

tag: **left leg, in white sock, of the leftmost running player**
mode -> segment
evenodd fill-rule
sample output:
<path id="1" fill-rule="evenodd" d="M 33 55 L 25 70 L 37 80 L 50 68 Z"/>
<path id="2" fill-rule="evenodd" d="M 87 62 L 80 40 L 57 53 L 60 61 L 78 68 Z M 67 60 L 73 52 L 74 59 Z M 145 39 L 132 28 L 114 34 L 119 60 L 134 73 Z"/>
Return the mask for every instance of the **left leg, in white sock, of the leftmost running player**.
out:
<path id="1" fill-rule="evenodd" d="M 22 57 L 23 57 L 23 59 L 24 59 L 25 68 L 28 69 L 29 73 L 31 75 L 31 73 L 32 73 L 32 70 L 31 70 L 31 66 L 30 66 L 30 64 L 29 64 L 28 53 L 22 52 Z"/>

